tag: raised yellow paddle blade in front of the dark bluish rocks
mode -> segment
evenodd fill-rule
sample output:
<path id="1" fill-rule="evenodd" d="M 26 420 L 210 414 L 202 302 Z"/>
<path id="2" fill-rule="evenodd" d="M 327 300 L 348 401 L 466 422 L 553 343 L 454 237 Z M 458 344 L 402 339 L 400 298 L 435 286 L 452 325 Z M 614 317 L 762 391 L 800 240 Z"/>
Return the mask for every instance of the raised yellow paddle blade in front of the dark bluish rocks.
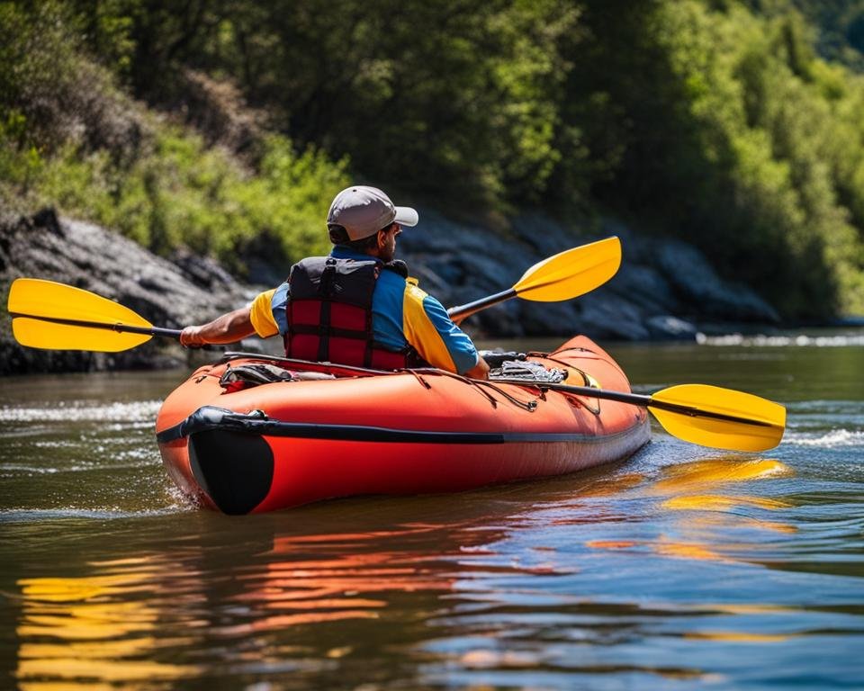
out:
<path id="1" fill-rule="evenodd" d="M 621 241 L 606 238 L 538 262 L 522 275 L 513 290 L 526 300 L 571 300 L 606 283 L 620 265 Z"/>

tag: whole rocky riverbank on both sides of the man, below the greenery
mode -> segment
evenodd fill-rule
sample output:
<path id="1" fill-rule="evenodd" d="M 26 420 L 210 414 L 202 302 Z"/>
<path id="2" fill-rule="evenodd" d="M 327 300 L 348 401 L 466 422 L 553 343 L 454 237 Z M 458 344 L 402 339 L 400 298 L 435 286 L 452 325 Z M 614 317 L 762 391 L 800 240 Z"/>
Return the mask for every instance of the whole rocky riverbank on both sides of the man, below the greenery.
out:
<path id="1" fill-rule="evenodd" d="M 465 323 L 474 337 L 584 333 L 601 340 L 695 340 L 700 333 L 779 327 L 778 314 L 766 301 L 722 280 L 706 256 L 677 240 L 646 238 L 613 221 L 582 235 L 540 213 L 518 217 L 503 235 L 435 210 L 419 211 L 421 223 L 402 234 L 399 256 L 421 287 L 446 306 L 500 292 L 528 266 L 569 247 L 611 235 L 622 240 L 621 269 L 607 285 L 563 303 L 509 301 Z M 0 220 L 4 296 L 19 276 L 68 283 L 118 301 L 159 327 L 182 328 L 235 309 L 282 281 L 289 268 L 255 257 L 248 265 L 249 280 L 241 283 L 206 257 L 184 251 L 155 256 L 112 230 L 58 217 L 51 209 Z M 4 374 L 165 368 L 186 357 L 179 346 L 159 339 L 118 354 L 22 348 L 14 342 L 8 315 L 3 319 Z"/>

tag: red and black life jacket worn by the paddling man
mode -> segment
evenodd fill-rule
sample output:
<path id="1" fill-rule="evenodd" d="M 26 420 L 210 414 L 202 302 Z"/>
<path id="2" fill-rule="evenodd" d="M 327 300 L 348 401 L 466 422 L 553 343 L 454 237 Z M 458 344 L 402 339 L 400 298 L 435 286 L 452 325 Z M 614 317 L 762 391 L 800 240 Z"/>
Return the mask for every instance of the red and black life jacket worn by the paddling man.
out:
<path id="1" fill-rule="evenodd" d="M 385 265 L 332 256 L 311 256 L 293 265 L 285 354 L 377 370 L 426 366 L 411 346 L 393 352 L 375 342 L 372 296 L 383 270 L 408 273 L 402 262 Z"/>

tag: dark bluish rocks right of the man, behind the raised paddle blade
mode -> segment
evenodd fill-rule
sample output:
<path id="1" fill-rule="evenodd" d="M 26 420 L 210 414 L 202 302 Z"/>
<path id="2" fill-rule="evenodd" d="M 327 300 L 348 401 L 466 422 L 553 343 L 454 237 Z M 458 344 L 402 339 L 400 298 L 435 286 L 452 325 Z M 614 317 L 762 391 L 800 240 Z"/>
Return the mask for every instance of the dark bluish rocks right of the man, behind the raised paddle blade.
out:
<path id="1" fill-rule="evenodd" d="M 695 247 L 664 239 L 640 238 L 614 220 L 597 235 L 577 235 L 543 214 L 512 221 L 510 235 L 457 224 L 421 209 L 421 225 L 401 236 L 400 256 L 421 287 L 445 305 L 459 305 L 506 290 L 548 256 L 592 240 L 617 235 L 621 268 L 605 286 L 573 301 L 513 300 L 465 321 L 474 336 L 571 336 L 600 339 L 693 339 L 689 317 L 773 323 L 768 303 L 740 285 L 722 281 Z"/>

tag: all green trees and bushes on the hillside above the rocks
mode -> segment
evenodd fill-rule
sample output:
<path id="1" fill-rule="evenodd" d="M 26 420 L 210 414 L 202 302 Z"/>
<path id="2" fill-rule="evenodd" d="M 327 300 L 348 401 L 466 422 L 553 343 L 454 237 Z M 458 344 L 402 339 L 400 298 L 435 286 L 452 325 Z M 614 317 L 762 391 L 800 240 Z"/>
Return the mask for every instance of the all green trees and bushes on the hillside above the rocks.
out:
<path id="1" fill-rule="evenodd" d="M 862 37 L 864 0 L 2 2 L 0 194 L 238 267 L 320 247 L 350 171 L 616 216 L 790 319 L 864 313 Z"/>

